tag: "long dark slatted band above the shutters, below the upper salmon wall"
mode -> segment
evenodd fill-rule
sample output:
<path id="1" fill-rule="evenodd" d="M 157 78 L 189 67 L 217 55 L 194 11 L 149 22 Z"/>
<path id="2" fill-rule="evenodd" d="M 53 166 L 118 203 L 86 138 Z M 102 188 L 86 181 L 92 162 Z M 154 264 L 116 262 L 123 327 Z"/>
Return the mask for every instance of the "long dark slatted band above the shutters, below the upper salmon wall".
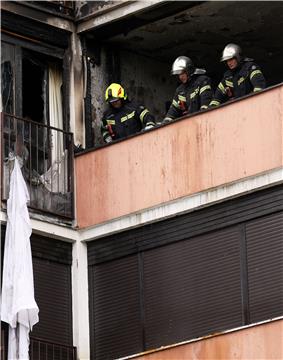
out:
<path id="1" fill-rule="evenodd" d="M 257 191 L 188 214 L 88 243 L 88 262 L 97 264 L 283 210 L 283 186 Z"/>

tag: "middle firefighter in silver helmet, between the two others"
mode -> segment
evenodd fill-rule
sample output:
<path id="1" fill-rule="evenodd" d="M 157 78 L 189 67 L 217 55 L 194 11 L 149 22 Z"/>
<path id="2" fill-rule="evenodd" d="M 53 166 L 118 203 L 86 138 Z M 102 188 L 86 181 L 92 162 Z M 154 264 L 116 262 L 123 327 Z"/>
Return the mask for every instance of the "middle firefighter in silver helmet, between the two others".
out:
<path id="1" fill-rule="evenodd" d="M 181 84 L 176 89 L 163 122 L 208 108 L 212 89 L 211 80 L 205 75 L 206 70 L 196 68 L 187 56 L 179 56 L 172 65 L 171 74 L 178 75 Z"/>

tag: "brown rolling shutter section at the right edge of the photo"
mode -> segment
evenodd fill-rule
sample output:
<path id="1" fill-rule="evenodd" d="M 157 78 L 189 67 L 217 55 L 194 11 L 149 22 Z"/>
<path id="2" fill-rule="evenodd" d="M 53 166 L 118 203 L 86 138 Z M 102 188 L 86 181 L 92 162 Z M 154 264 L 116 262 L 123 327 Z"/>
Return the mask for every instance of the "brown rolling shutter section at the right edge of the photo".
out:
<path id="1" fill-rule="evenodd" d="M 283 314 L 283 212 L 246 224 L 250 320 Z"/>

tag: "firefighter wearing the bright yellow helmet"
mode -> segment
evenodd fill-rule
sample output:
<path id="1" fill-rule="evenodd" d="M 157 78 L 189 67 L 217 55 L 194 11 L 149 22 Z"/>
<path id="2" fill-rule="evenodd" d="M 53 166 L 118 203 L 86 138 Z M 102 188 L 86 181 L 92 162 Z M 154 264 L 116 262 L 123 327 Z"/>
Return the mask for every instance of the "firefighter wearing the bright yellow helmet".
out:
<path id="1" fill-rule="evenodd" d="M 103 115 L 101 133 L 106 143 L 154 127 L 153 115 L 143 105 L 128 100 L 120 84 L 112 83 L 108 86 L 105 100 L 109 109 Z"/>

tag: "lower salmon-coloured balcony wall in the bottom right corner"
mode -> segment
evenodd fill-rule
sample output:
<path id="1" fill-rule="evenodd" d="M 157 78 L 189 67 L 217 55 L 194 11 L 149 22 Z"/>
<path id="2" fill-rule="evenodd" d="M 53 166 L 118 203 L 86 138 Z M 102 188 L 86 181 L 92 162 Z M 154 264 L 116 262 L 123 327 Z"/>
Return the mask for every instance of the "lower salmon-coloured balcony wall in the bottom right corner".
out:
<path id="1" fill-rule="evenodd" d="M 283 321 L 274 321 L 225 335 L 134 357 L 134 360 L 280 360 Z"/>

